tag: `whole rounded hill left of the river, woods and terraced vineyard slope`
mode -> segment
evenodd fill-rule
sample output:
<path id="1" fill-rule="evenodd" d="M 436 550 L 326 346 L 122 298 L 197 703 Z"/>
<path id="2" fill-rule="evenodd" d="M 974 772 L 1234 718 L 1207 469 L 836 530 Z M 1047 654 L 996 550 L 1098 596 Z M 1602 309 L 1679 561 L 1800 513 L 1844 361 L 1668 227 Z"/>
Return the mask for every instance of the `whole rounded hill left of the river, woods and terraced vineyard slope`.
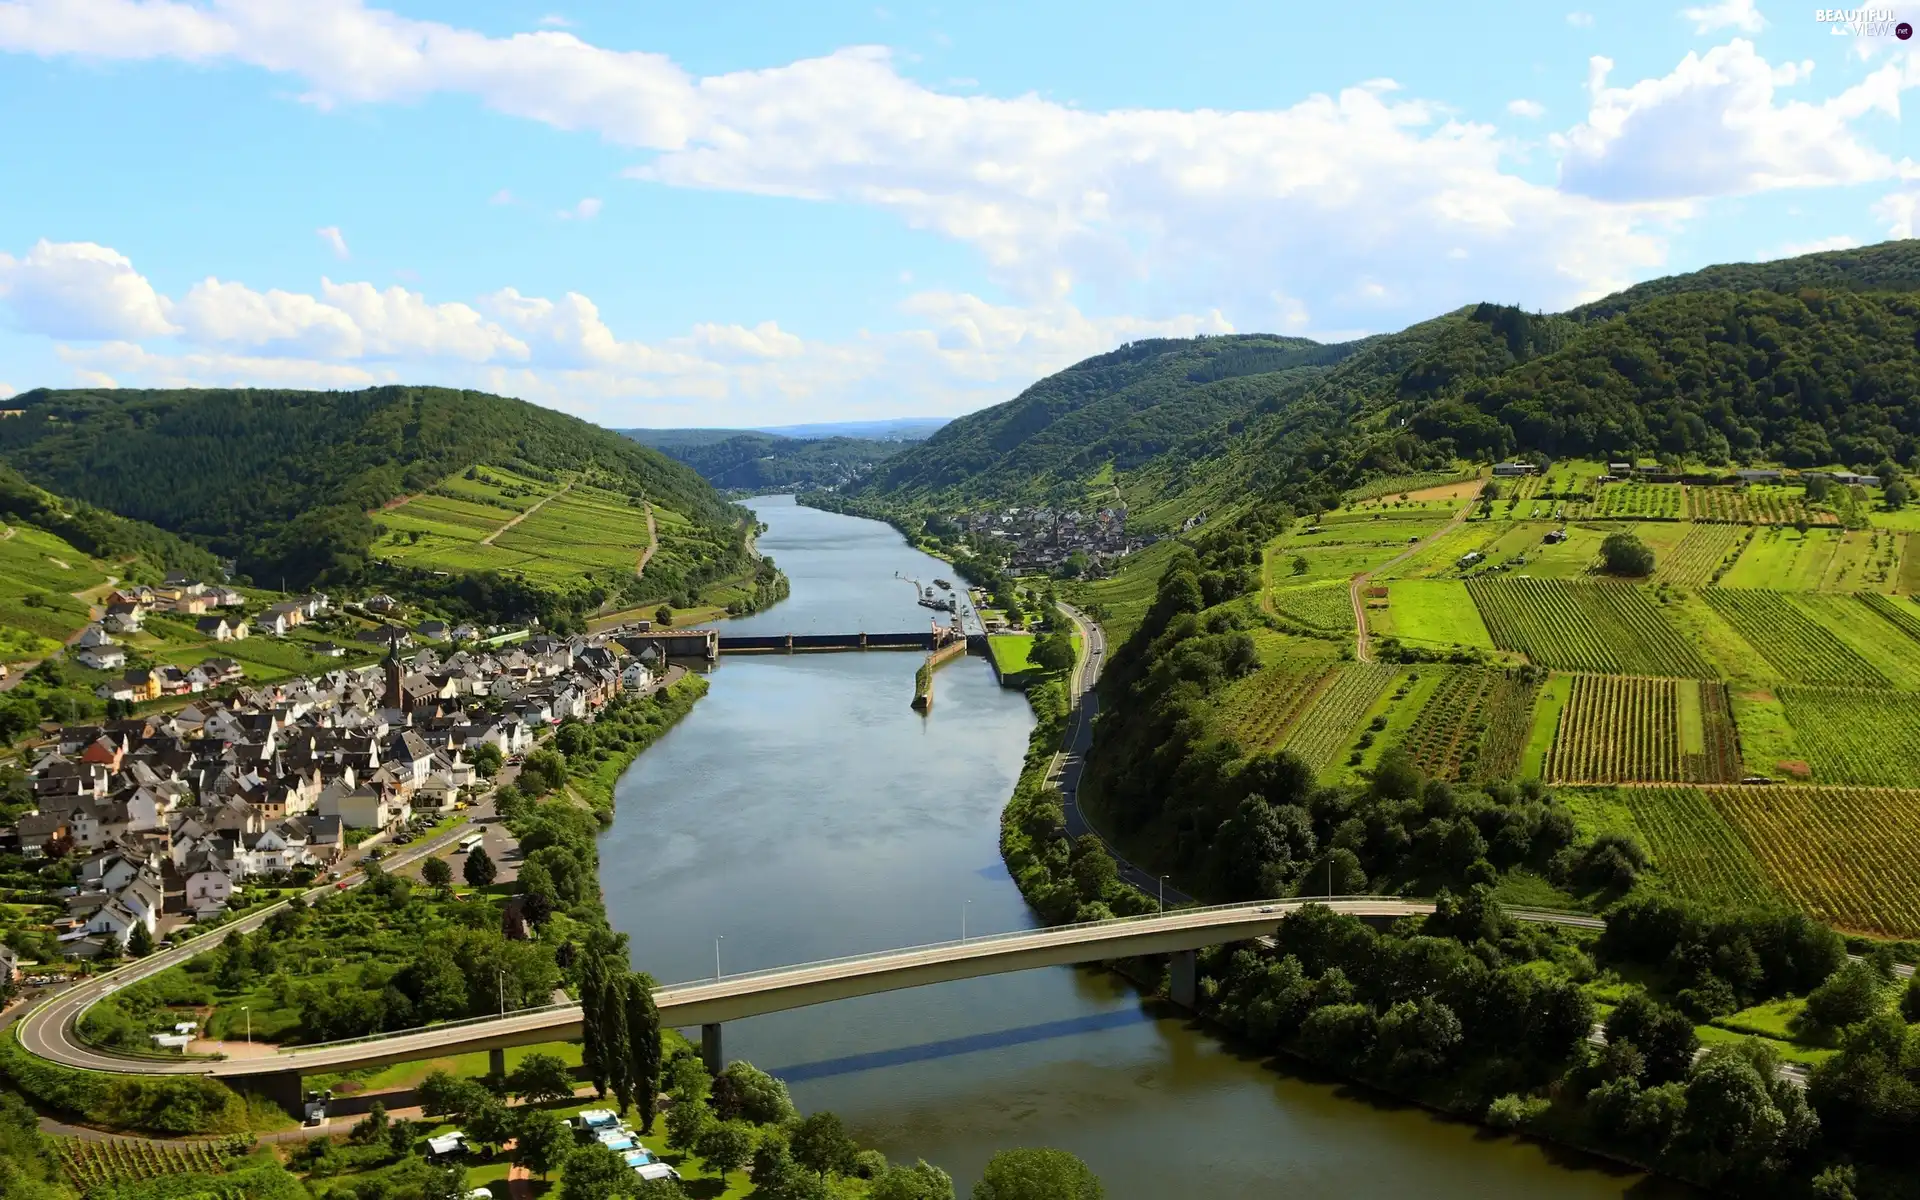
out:
<path id="1" fill-rule="evenodd" d="M 547 620 L 651 599 L 691 605 L 701 589 L 732 580 L 755 591 L 747 515 L 699 474 L 518 399 L 449 388 L 36 390 L 10 405 L 21 415 L 0 422 L 0 461 L 35 484 L 230 557 L 263 584 L 365 584 L 445 612 Z M 568 557 L 561 507 L 515 532 L 518 559 L 407 563 L 396 553 L 396 534 L 415 534 L 411 549 L 430 530 L 405 528 L 405 516 L 388 524 L 388 513 L 457 492 L 453 484 L 482 467 L 511 474 L 528 493 L 578 486 L 578 501 L 593 495 L 603 509 L 634 513 L 628 543 L 570 570 L 520 570 L 526 561 Z M 476 541 L 516 515 L 499 495 L 445 499 L 478 503 L 478 515 L 463 515 L 488 526 Z M 649 507 L 672 515 L 662 522 L 672 545 L 655 551 L 657 568 L 637 572 Z M 595 513 L 578 516 L 588 522 Z M 745 603 L 737 591 L 726 603 Z"/>

